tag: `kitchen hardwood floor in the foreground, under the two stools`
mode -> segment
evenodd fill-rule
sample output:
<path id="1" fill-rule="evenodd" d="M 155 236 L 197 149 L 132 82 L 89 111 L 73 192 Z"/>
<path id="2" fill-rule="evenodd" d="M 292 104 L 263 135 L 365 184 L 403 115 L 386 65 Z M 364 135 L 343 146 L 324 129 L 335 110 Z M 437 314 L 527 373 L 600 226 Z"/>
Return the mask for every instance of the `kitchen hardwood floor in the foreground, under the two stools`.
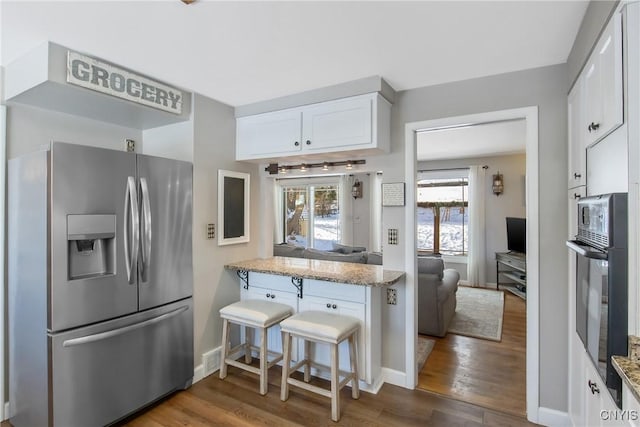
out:
<path id="1" fill-rule="evenodd" d="M 341 391 L 342 418 L 331 421 L 328 398 L 291 388 L 289 400 L 280 401 L 280 367 L 270 371 L 269 392 L 258 394 L 255 375 L 229 368 L 222 381 L 217 374 L 176 393 L 127 420 L 131 427 L 166 426 L 529 426 L 522 417 L 446 399 L 421 390 L 386 384 L 377 395 L 362 392 L 351 399 Z M 316 384 L 328 385 L 324 380 Z"/>

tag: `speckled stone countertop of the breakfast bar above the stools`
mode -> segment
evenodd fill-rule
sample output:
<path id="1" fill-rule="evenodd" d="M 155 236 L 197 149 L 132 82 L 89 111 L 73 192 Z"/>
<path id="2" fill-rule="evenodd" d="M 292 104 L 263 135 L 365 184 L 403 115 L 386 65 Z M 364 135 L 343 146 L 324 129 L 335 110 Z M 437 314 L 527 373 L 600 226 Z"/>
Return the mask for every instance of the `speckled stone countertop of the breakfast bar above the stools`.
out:
<path id="1" fill-rule="evenodd" d="M 224 268 L 378 287 L 391 286 L 405 274 L 404 271 L 384 270 L 380 265 L 278 256 L 231 262 Z"/>

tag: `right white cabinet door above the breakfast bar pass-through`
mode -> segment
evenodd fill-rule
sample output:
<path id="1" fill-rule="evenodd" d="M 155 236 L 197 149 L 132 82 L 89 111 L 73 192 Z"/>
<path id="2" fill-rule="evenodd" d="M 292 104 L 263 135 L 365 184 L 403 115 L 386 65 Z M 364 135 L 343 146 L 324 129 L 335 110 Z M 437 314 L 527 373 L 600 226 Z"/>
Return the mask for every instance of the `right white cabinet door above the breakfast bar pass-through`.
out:
<path id="1" fill-rule="evenodd" d="M 372 97 L 309 106 L 302 117 L 305 151 L 357 149 L 374 142 Z"/>

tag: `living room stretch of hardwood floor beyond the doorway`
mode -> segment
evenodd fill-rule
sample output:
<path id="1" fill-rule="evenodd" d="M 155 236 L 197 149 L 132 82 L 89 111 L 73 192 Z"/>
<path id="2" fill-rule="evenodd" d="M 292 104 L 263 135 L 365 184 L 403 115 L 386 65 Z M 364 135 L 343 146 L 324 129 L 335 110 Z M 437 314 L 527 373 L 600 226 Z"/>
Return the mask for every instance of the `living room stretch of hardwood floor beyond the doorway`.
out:
<path id="1" fill-rule="evenodd" d="M 526 303 L 505 292 L 502 341 L 435 339 L 418 388 L 512 415 L 526 414 Z"/>

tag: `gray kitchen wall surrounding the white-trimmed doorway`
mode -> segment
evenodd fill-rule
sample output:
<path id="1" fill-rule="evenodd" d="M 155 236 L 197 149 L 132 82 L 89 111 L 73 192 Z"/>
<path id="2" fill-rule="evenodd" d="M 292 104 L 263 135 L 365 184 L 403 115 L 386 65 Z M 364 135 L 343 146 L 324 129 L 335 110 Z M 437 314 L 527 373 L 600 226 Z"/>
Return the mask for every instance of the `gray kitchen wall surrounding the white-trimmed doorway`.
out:
<path id="1" fill-rule="evenodd" d="M 392 109 L 392 153 L 367 159 L 369 167 L 384 173 L 384 182 L 404 181 L 406 123 L 538 106 L 540 310 L 545 313 L 539 325 L 539 401 L 542 407 L 559 411 L 567 409 L 567 203 L 563 185 L 567 169 L 567 90 L 567 66 L 562 64 L 399 92 Z M 384 209 L 383 228 L 389 227 L 400 230 L 401 244 L 383 245 L 385 268 L 403 270 L 402 242 L 413 238 L 409 234 L 413 231 L 404 227 L 404 209 Z M 398 305 L 383 307 L 383 366 L 404 370 L 408 296 L 402 286 L 398 286 L 398 294 Z"/>

